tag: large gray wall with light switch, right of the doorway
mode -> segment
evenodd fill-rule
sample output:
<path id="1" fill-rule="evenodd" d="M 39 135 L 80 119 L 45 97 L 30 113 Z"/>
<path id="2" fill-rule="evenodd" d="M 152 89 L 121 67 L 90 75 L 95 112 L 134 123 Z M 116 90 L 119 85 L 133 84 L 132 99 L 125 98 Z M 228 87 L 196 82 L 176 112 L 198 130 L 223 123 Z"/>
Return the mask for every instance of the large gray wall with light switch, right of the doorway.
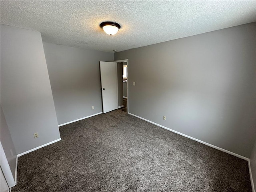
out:
<path id="1" fill-rule="evenodd" d="M 249 158 L 255 34 L 250 23 L 115 53 L 129 59 L 129 112 Z"/>

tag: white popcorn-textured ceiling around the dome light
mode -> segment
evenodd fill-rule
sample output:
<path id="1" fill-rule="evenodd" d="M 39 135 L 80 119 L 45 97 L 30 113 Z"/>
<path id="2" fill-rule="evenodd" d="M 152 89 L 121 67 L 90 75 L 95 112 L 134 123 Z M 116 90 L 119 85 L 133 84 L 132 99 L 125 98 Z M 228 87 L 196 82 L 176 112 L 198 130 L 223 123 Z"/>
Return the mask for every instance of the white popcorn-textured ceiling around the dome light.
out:
<path id="1" fill-rule="evenodd" d="M 1 1 L 1 23 L 44 42 L 113 52 L 256 21 L 256 1 Z M 121 29 L 108 36 L 100 23 Z"/>

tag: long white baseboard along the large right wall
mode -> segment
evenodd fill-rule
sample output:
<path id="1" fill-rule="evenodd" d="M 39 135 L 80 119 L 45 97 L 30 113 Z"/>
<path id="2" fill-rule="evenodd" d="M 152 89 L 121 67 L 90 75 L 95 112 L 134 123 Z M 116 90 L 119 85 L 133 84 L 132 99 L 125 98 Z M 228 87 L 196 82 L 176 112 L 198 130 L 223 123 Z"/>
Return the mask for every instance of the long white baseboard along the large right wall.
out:
<path id="1" fill-rule="evenodd" d="M 152 124 L 154 124 L 154 125 L 156 125 L 156 126 L 159 126 L 159 127 L 164 128 L 164 129 L 167 129 L 167 130 L 169 130 L 169 131 L 172 131 L 172 132 L 174 132 L 174 133 L 177 133 L 177 134 L 179 134 L 179 135 L 182 135 L 182 136 L 184 136 L 184 137 L 187 137 L 187 138 L 190 138 L 190 139 L 195 140 L 195 141 L 197 141 L 197 142 L 200 142 L 200 143 L 202 143 L 202 144 L 205 144 L 205 145 L 207 145 L 207 146 L 210 146 L 210 147 L 212 147 L 212 148 L 218 149 L 218 150 L 220 150 L 220 151 L 222 151 L 222 152 L 225 152 L 225 153 L 228 153 L 228 154 L 230 154 L 230 155 L 234 155 L 234 156 L 236 156 L 236 157 L 238 157 L 238 158 L 241 158 L 241 159 L 244 159 L 244 160 L 246 160 L 246 161 L 249 161 L 249 158 L 246 158 L 246 157 L 244 157 L 244 156 L 242 156 L 242 155 L 238 155 L 238 154 L 233 153 L 233 152 L 231 152 L 231 151 L 228 151 L 228 150 L 226 150 L 226 149 L 222 149 L 222 148 L 220 148 L 220 147 L 217 147 L 217 146 L 214 146 L 214 145 L 212 145 L 212 144 L 206 143 L 206 142 L 201 141 L 201 140 L 199 140 L 199 139 L 190 137 L 190 136 L 188 136 L 188 135 L 186 135 L 186 134 L 183 134 L 183 133 L 180 133 L 180 132 L 178 132 L 178 131 L 172 130 L 172 129 L 170 129 L 170 128 L 167 128 L 167 127 L 162 126 L 162 125 L 160 125 L 160 124 L 154 123 L 154 122 L 152 122 L 152 121 L 150 121 L 150 120 L 144 119 L 144 118 L 142 118 L 142 117 L 140 117 L 140 116 L 137 116 L 137 115 L 134 115 L 134 114 L 132 114 L 132 113 L 129 113 L 129 112 L 128 112 L 128 114 L 130 114 L 130 115 L 132 115 L 132 116 L 135 116 L 135 117 L 138 117 L 138 118 L 140 118 L 140 119 L 142 119 L 142 120 L 144 120 L 144 121 L 150 122 L 150 123 L 152 123 Z"/>

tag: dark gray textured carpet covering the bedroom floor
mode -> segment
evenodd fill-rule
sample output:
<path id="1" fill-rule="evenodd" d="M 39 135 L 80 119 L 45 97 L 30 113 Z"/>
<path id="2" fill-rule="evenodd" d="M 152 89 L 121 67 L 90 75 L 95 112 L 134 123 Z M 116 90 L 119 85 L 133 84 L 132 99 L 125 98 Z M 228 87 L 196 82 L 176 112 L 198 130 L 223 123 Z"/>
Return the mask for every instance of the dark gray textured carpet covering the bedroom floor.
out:
<path id="1" fill-rule="evenodd" d="M 12 192 L 251 192 L 248 162 L 121 110 L 60 127 Z"/>

